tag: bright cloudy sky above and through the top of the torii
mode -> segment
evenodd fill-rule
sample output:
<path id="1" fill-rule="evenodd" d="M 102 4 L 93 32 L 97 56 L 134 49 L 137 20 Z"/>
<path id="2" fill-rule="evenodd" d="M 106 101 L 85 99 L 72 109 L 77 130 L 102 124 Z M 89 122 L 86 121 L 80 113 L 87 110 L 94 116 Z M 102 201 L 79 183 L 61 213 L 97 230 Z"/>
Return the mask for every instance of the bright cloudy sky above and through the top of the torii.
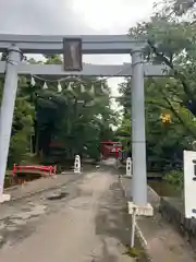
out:
<path id="1" fill-rule="evenodd" d="M 126 34 L 137 22 L 147 20 L 155 0 L 0 0 L 0 34 Z M 84 57 L 85 62 L 120 64 L 130 56 Z M 118 95 L 122 79 L 111 79 Z"/>

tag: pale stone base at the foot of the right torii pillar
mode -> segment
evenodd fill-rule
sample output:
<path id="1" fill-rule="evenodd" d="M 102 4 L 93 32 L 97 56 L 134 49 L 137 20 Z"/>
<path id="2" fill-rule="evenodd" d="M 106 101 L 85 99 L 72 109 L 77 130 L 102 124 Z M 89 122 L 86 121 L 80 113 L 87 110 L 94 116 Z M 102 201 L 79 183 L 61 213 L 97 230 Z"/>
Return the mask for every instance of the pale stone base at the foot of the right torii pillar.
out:
<path id="1" fill-rule="evenodd" d="M 135 210 L 136 210 L 137 216 L 152 216 L 154 215 L 154 207 L 149 203 L 145 206 L 138 206 L 138 205 L 134 204 L 133 202 L 128 202 L 127 207 L 128 207 L 130 215 L 132 215 Z"/>

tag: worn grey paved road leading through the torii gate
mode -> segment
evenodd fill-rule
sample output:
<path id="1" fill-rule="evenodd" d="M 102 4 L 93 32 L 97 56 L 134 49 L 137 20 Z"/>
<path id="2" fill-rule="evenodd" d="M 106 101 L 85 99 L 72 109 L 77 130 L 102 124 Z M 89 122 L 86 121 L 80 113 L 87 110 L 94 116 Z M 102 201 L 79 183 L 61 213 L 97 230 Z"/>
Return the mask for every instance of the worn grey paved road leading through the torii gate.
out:
<path id="1" fill-rule="evenodd" d="M 58 192 L 68 196 L 23 200 L 0 222 L 0 261 L 134 261 L 124 254 L 128 228 L 117 176 L 91 172 Z"/>

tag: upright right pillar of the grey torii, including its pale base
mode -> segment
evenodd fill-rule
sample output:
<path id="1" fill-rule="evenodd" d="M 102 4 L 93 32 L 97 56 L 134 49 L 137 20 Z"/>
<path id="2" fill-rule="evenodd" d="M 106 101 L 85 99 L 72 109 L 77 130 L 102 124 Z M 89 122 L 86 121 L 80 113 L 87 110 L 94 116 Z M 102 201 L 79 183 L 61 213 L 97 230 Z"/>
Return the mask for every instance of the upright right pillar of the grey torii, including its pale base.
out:
<path id="1" fill-rule="evenodd" d="M 147 201 L 146 134 L 145 134 L 145 92 L 143 50 L 132 51 L 132 196 L 128 213 L 151 216 L 152 206 Z"/>

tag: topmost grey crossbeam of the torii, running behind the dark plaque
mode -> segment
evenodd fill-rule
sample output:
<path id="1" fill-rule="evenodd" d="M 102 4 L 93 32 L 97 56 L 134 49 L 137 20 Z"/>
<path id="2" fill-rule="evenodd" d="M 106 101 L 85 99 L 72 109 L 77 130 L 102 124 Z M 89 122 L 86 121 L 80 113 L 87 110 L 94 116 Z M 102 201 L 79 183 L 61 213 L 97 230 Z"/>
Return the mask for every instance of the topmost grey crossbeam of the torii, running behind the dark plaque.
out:
<path id="1" fill-rule="evenodd" d="M 83 53 L 130 53 L 143 49 L 147 41 L 131 38 L 128 35 L 0 35 L 0 52 L 15 44 L 23 53 L 62 53 L 63 38 L 81 38 Z"/>

